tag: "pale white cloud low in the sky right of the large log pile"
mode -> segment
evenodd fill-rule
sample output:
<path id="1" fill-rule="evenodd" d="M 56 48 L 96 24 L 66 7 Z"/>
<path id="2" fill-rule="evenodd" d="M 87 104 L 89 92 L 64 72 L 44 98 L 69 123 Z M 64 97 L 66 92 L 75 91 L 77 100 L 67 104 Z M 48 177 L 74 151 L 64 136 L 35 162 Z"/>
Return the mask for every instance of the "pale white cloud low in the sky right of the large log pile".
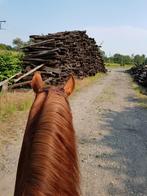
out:
<path id="1" fill-rule="evenodd" d="M 95 38 L 98 44 L 103 42 L 102 49 L 107 55 L 147 55 L 147 29 L 133 26 L 88 27 L 87 33 Z"/>

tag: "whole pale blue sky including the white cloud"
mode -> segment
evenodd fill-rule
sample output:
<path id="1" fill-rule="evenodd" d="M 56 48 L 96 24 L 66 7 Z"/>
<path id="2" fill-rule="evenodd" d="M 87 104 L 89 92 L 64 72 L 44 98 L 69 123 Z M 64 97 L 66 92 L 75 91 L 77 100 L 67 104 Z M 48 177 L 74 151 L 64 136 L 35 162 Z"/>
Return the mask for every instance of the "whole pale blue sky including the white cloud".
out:
<path id="1" fill-rule="evenodd" d="M 0 0 L 0 43 L 86 30 L 107 56 L 147 55 L 147 0 Z"/>

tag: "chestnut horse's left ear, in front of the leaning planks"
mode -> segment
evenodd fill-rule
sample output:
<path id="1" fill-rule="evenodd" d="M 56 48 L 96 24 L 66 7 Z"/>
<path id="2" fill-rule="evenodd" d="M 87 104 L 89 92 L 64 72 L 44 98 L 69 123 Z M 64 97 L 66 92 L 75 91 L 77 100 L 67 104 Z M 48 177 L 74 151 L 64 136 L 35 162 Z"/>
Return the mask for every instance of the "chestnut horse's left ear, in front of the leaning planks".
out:
<path id="1" fill-rule="evenodd" d="M 44 82 L 42 80 L 40 72 L 34 73 L 34 76 L 33 76 L 32 82 L 31 82 L 31 86 L 32 86 L 35 93 L 38 93 L 39 89 L 41 89 L 44 86 Z"/>

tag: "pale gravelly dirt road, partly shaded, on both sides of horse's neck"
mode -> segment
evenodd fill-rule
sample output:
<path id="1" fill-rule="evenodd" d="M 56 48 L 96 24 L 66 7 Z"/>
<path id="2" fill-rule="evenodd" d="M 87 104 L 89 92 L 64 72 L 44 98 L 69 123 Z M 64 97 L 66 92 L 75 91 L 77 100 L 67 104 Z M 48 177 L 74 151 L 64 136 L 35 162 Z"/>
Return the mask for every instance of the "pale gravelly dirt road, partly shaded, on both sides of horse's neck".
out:
<path id="1" fill-rule="evenodd" d="M 112 70 L 71 99 L 83 196 L 147 195 L 147 109 L 130 77 Z M 0 136 L 0 195 L 12 196 L 26 114 Z M 10 136 L 11 135 L 11 136 Z M 2 141 L 2 142 L 1 142 Z M 9 143 L 7 144 L 7 142 Z"/>

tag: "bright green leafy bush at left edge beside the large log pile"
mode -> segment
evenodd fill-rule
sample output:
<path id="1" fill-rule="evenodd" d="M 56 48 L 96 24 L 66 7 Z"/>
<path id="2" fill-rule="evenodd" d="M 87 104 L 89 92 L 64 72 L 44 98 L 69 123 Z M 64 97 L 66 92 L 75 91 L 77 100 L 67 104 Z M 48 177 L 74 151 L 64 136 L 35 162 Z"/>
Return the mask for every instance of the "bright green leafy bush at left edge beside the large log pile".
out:
<path id="1" fill-rule="evenodd" d="M 0 81 L 21 70 L 22 53 L 0 49 Z"/>

